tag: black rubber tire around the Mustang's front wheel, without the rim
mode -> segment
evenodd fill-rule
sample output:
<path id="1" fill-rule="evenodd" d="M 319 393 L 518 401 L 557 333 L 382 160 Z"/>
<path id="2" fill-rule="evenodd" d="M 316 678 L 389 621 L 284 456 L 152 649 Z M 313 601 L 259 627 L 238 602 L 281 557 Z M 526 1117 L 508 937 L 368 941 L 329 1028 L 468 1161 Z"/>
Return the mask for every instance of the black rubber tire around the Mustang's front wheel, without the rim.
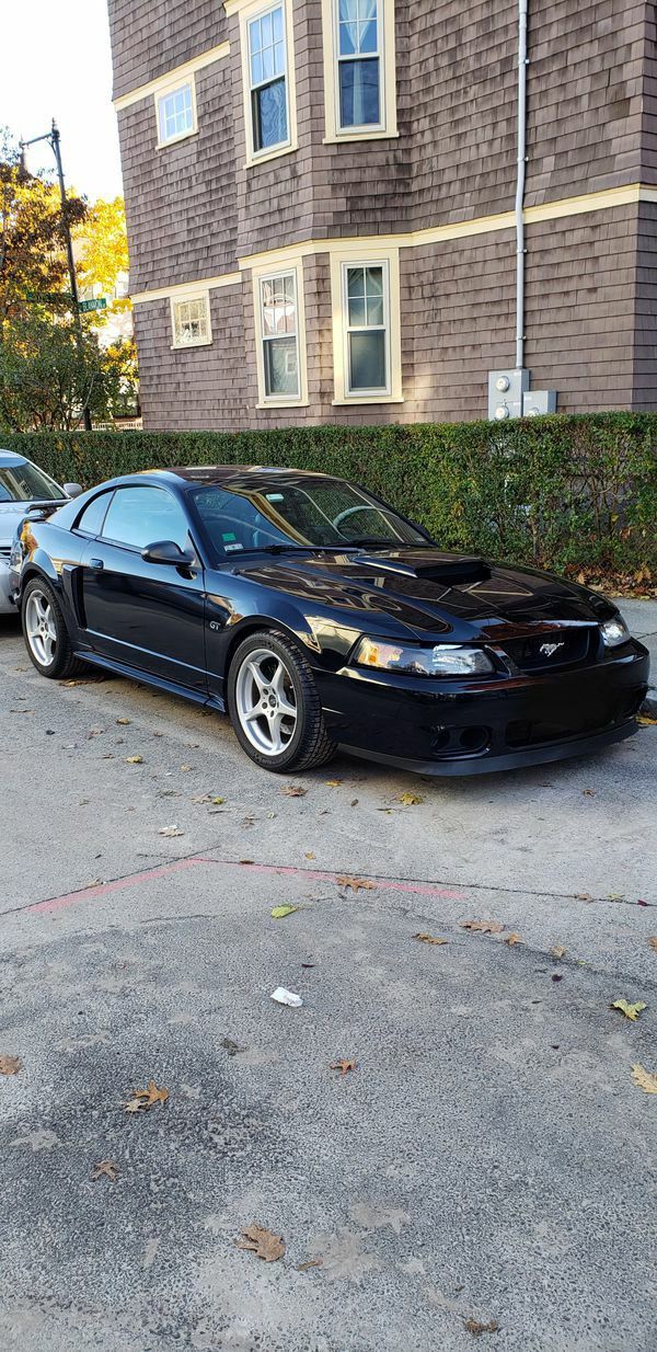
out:
<path id="1" fill-rule="evenodd" d="M 245 681 L 250 679 L 246 662 L 256 653 L 270 653 L 272 669 L 276 669 L 276 662 L 280 662 L 288 677 L 287 695 L 284 698 L 295 706 L 295 726 L 280 753 L 265 753 L 254 745 L 249 733 L 245 731 L 241 718 L 242 691 Z M 268 669 L 266 660 L 262 669 Z M 266 698 L 264 696 L 262 704 L 265 706 L 265 703 Z M 227 707 L 239 745 L 256 761 L 256 765 L 261 765 L 262 769 L 269 769 L 277 775 L 292 769 L 311 769 L 314 765 L 323 765 L 335 754 L 337 746 L 326 731 L 312 668 L 301 649 L 287 634 L 281 634 L 278 630 L 262 630 L 250 634 L 235 649 L 228 669 Z M 276 710 L 272 717 L 274 719 L 277 717 L 285 718 L 285 715 L 276 714 Z M 257 737 L 258 729 L 262 729 L 262 735 L 266 738 L 269 726 L 268 711 L 265 710 L 262 715 L 258 714 L 253 722 L 257 725 L 254 735 Z M 292 723 L 292 718 L 288 719 L 289 723 Z"/>

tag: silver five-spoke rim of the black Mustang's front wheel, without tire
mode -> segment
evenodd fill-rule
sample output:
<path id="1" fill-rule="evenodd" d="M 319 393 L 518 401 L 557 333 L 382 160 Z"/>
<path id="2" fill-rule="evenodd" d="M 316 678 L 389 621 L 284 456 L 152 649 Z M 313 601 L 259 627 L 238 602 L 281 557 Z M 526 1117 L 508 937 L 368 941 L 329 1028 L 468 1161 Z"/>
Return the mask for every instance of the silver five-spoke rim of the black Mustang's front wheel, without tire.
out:
<path id="1" fill-rule="evenodd" d="M 235 708 L 242 730 L 261 756 L 280 756 L 296 729 L 292 676 L 277 653 L 257 648 L 239 667 Z"/>

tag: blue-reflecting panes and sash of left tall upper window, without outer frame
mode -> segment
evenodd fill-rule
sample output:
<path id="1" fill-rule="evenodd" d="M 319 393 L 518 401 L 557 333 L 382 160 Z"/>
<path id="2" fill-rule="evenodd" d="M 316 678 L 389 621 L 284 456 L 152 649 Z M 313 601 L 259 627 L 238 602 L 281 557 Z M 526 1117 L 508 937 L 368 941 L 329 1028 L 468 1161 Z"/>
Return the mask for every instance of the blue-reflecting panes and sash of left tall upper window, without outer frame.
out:
<path id="1" fill-rule="evenodd" d="M 283 5 L 249 20 L 253 150 L 285 146 L 288 91 Z"/>

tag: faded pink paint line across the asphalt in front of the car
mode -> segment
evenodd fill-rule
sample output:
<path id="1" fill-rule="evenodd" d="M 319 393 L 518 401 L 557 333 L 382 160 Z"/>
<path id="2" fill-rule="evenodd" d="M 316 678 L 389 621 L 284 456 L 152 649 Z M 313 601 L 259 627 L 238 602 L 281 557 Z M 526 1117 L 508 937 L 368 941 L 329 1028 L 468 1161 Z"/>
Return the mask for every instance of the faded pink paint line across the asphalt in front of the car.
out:
<path id="1" fill-rule="evenodd" d="M 126 887 L 138 887 L 139 883 L 150 883 L 154 877 L 166 877 L 169 873 L 178 873 L 187 868 L 196 868 L 199 864 L 214 864 L 222 865 L 223 868 L 243 868 L 249 869 L 251 873 L 265 873 L 266 876 L 277 877 L 299 877 L 308 879 L 312 883 L 334 883 L 339 887 L 338 879 L 346 877 L 345 873 L 327 873 L 315 868 L 299 868 L 295 865 L 285 864 L 257 864 L 245 863 L 241 864 L 239 860 L 234 859 L 212 859 L 207 854 L 196 854 L 193 859 L 177 859 L 172 864 L 160 864 L 155 868 L 146 868 L 141 873 L 128 873 L 126 877 L 115 877 L 111 883 L 99 883 L 96 887 L 81 887 L 77 892 L 65 892 L 62 896 L 50 896 L 45 902 L 35 902 L 34 906 L 27 906 L 27 911 L 58 911 L 65 906 L 73 906 L 76 902 L 91 902 L 96 896 L 107 896 L 110 892 L 118 892 Z M 360 877 L 361 875 L 349 875 Z M 365 877 L 365 875 L 362 875 Z M 433 883 L 411 883 L 411 882 L 397 882 L 393 877 L 373 877 L 377 888 L 388 892 L 415 892 L 420 896 L 446 896 L 452 900 L 461 900 L 464 894 L 457 892 L 447 887 L 435 887 Z"/>

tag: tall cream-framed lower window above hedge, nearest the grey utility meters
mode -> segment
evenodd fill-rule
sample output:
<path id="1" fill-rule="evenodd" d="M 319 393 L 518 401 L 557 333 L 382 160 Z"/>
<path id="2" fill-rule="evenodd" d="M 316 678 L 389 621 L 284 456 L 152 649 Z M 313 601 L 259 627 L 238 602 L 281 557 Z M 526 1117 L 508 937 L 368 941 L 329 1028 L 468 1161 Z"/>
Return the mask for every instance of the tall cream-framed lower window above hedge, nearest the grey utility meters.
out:
<path id="1" fill-rule="evenodd" d="M 399 250 L 331 253 L 335 403 L 402 402 Z"/>

